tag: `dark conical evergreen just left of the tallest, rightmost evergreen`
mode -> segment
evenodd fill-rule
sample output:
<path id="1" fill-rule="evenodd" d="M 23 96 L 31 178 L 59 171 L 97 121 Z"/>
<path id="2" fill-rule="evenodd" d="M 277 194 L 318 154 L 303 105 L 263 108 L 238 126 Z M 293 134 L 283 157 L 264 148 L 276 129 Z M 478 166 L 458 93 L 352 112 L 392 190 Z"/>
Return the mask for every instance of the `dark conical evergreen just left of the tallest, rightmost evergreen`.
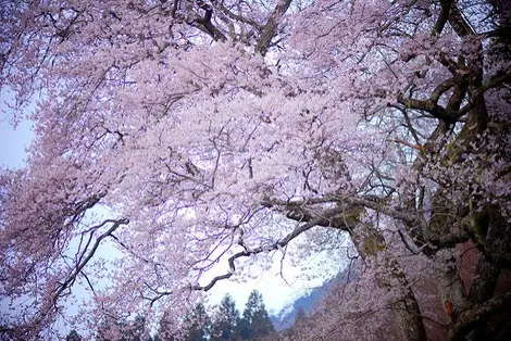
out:
<path id="1" fill-rule="evenodd" d="M 237 325 L 239 321 L 239 312 L 236 303 L 229 294 L 222 300 L 215 320 L 211 328 L 211 341 L 220 340 L 239 340 L 237 334 Z"/>

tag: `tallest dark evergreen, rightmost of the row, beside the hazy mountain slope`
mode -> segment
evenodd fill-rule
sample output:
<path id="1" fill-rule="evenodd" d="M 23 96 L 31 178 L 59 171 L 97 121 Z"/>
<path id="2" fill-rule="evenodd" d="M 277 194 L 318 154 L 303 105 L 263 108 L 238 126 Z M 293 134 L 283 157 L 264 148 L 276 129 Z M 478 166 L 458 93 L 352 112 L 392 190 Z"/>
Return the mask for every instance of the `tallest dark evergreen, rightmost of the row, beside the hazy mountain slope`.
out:
<path id="1" fill-rule="evenodd" d="M 254 340 L 274 331 L 263 298 L 257 290 L 248 298 L 238 330 L 244 340 Z"/>

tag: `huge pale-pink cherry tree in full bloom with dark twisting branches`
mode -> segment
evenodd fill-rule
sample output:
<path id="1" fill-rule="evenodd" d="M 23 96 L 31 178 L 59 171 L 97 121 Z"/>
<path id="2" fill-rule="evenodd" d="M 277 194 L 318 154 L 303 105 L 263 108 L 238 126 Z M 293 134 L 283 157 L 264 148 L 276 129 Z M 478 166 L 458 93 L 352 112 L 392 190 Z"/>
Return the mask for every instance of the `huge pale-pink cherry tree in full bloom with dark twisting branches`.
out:
<path id="1" fill-rule="evenodd" d="M 413 289 L 426 268 L 457 307 L 449 339 L 495 337 L 511 303 L 496 291 L 511 264 L 510 13 L 504 0 L 2 4 L 3 108 L 36 138 L 26 167 L 0 175 L 0 295 L 14 306 L 1 332 L 53 336 L 76 287 L 91 295 L 82 324 L 178 323 L 247 262 L 303 236 L 335 249 L 324 237 L 340 231 L 385 293 L 358 294 L 392 313 L 397 338 L 426 340 Z M 335 320 L 348 315 L 329 324 L 360 328 Z"/>

